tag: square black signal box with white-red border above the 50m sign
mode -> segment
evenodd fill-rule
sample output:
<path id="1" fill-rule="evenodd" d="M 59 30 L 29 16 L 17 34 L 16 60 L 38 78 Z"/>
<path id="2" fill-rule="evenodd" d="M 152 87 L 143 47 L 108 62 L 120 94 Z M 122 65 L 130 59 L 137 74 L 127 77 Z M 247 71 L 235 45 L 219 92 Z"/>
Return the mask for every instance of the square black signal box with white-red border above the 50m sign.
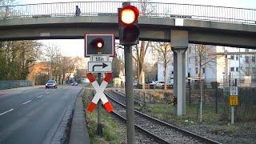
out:
<path id="1" fill-rule="evenodd" d="M 85 57 L 90 55 L 109 55 L 114 57 L 114 34 L 85 35 Z"/>

